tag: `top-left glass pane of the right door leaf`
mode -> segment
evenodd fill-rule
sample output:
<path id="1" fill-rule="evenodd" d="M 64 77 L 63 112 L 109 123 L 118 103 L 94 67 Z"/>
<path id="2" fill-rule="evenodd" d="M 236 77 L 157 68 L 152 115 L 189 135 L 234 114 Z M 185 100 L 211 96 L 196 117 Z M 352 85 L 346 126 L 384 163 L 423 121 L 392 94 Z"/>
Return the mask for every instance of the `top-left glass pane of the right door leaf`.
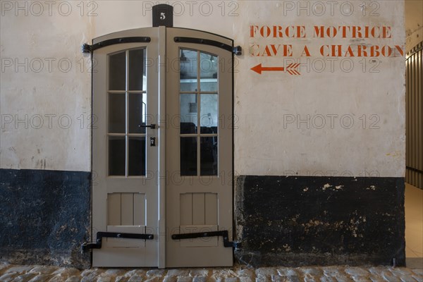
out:
<path id="1" fill-rule="evenodd" d="M 180 91 L 197 92 L 197 51 L 180 49 Z"/>

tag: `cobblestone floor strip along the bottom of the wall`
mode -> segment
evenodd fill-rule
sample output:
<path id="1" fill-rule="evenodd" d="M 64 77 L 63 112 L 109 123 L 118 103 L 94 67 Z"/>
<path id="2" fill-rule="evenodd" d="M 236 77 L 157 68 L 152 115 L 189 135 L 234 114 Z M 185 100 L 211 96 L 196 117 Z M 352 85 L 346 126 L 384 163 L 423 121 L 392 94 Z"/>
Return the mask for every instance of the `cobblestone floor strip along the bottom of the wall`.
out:
<path id="1" fill-rule="evenodd" d="M 423 282 L 422 269 L 378 267 L 271 267 L 249 269 L 246 266 L 216 269 L 87 269 L 57 266 L 23 266 L 0 262 L 1 282 L 273 282 L 273 281 L 384 281 Z"/>

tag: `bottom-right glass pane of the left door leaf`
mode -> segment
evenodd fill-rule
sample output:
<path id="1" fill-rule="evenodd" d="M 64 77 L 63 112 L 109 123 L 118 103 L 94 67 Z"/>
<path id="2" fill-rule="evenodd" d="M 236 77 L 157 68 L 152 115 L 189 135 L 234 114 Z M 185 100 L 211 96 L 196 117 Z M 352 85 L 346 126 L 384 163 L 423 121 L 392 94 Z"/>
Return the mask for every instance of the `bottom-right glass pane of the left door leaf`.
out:
<path id="1" fill-rule="evenodd" d="M 145 137 L 128 138 L 128 176 L 145 176 Z"/>

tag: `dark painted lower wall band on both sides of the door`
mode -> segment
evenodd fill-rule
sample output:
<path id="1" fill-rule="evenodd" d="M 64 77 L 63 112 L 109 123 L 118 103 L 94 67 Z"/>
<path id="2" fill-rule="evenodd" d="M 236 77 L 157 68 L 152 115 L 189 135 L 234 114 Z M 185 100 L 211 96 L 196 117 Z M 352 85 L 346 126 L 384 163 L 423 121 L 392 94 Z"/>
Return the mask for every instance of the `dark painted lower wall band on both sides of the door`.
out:
<path id="1" fill-rule="evenodd" d="M 0 169 L 0 260 L 90 267 L 90 173 Z M 252 266 L 405 264 L 404 179 L 240 176 L 235 226 Z"/>

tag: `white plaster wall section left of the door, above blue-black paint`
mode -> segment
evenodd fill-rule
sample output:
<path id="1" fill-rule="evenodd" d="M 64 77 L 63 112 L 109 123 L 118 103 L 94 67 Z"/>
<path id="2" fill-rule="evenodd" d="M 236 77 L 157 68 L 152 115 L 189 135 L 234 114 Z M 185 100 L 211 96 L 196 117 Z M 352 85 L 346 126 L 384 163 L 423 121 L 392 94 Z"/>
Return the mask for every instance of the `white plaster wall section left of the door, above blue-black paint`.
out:
<path id="1" fill-rule="evenodd" d="M 31 3 L 1 1 L 1 168 L 89 171 L 90 18 L 76 1 Z"/>

